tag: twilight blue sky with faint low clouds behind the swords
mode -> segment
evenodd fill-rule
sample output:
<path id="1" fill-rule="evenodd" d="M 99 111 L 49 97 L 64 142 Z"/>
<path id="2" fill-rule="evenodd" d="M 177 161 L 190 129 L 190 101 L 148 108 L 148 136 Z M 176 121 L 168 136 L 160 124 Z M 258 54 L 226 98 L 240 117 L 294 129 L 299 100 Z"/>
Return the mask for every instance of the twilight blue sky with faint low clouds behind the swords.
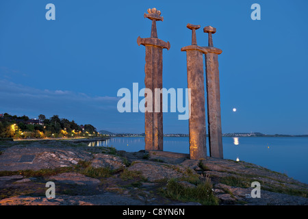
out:
<path id="1" fill-rule="evenodd" d="M 55 21 L 45 5 L 55 4 Z M 261 5 L 261 21 L 251 5 Z M 162 11 L 164 88 L 187 88 L 187 23 L 200 46 L 217 32 L 222 132 L 308 134 L 308 1 L 0 1 L 0 113 L 90 123 L 98 130 L 144 132 L 142 113 L 120 114 L 120 88 L 144 88 L 148 8 Z M 140 98 L 141 100 L 142 98 Z M 233 112 L 233 107 L 237 112 Z M 164 113 L 164 133 L 188 133 L 188 120 Z"/>

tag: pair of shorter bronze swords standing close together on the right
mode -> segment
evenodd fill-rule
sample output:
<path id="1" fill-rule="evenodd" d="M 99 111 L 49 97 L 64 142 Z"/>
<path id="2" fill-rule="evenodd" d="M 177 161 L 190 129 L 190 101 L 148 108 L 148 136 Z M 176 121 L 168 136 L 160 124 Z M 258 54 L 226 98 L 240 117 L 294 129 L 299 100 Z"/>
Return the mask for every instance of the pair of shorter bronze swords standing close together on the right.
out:
<path id="1" fill-rule="evenodd" d="M 222 50 L 213 46 L 211 34 L 216 32 L 214 27 L 207 26 L 203 29 L 204 32 L 209 33 L 208 47 L 199 47 L 196 44 L 196 29 L 200 26 L 188 24 L 187 27 L 192 29 L 192 45 L 183 47 L 181 51 L 186 51 L 187 53 L 188 88 L 192 89 L 190 101 L 190 158 L 201 159 L 206 157 L 205 118 L 203 118 L 203 115 L 205 115 L 204 79 L 200 76 L 201 73 L 203 74 L 202 53 L 205 54 L 206 66 L 209 155 L 223 158 L 218 70 L 218 55 L 222 53 Z"/>

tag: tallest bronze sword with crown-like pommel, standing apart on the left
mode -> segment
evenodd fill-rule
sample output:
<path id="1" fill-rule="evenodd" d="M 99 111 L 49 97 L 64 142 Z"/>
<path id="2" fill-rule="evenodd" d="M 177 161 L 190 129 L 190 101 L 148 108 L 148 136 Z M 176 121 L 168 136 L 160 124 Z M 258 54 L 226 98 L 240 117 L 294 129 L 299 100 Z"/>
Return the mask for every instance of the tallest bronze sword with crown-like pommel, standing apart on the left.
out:
<path id="1" fill-rule="evenodd" d="M 153 93 L 151 109 L 145 103 L 144 112 L 144 132 L 145 132 L 145 150 L 163 150 L 163 112 L 162 112 L 162 95 L 160 94 L 159 103 L 155 101 L 155 89 L 162 89 L 162 50 L 170 49 L 170 43 L 164 42 L 157 38 L 156 21 L 164 21 L 160 16 L 161 12 L 156 8 L 148 9 L 149 14 L 144 13 L 144 18 L 152 21 L 151 38 L 137 39 L 138 45 L 146 47 L 146 64 L 144 66 L 144 84 L 146 88 Z M 147 94 L 145 93 L 144 96 Z M 158 105 L 159 104 L 159 107 Z M 159 109 L 159 112 L 155 111 Z"/>

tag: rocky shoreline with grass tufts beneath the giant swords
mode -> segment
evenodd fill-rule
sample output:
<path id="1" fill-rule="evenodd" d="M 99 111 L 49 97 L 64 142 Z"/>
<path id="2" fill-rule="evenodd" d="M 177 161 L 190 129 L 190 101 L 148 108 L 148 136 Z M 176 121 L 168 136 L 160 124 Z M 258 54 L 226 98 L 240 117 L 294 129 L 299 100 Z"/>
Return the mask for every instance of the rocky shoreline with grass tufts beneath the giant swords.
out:
<path id="1" fill-rule="evenodd" d="M 307 184 L 247 162 L 79 141 L 0 142 L 0 151 L 0 205 L 308 205 Z"/>

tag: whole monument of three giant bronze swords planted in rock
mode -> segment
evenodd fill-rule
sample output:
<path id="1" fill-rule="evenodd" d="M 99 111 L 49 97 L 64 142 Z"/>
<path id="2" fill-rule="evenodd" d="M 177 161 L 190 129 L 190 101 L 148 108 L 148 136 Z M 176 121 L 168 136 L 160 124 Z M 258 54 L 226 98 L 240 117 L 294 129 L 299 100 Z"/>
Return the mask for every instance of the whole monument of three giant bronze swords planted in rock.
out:
<path id="1" fill-rule="evenodd" d="M 169 50 L 170 43 L 157 38 L 156 21 L 164 21 L 164 17 L 160 16 L 161 12 L 152 8 L 148 10 L 148 13 L 144 13 L 144 18 L 149 18 L 152 21 L 151 37 L 140 38 L 139 36 L 137 43 L 146 47 L 144 83 L 146 88 L 154 93 L 155 89 L 162 89 L 162 51 L 163 49 Z M 209 43 L 207 47 L 200 47 L 196 42 L 196 29 L 201 26 L 188 24 L 186 27 L 192 30 L 192 44 L 181 48 L 181 51 L 185 51 L 187 56 L 188 88 L 191 92 L 189 99 L 190 159 L 207 157 L 203 54 L 205 55 L 209 155 L 223 158 L 218 70 L 218 55 L 222 53 L 222 50 L 213 46 L 212 34 L 216 33 L 216 28 L 204 27 L 203 31 L 209 35 Z M 144 95 L 146 96 L 146 93 Z M 156 101 L 159 103 L 155 102 L 154 95 L 152 98 L 153 105 L 145 105 L 145 107 L 151 107 L 151 110 L 144 112 L 145 150 L 163 151 L 162 95 L 159 96 L 159 101 Z"/>

